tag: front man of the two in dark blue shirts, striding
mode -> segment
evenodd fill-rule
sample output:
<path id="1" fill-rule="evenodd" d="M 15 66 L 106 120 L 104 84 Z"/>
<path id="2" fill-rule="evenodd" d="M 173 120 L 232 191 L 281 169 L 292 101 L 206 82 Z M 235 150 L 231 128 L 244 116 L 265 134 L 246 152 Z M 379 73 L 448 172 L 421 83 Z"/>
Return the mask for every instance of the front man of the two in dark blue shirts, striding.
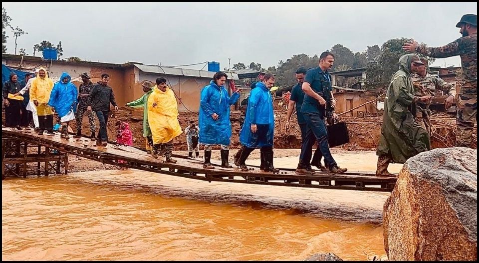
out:
<path id="1" fill-rule="evenodd" d="M 341 174 L 347 171 L 346 168 L 339 168 L 328 146 L 328 133 L 324 117 L 326 116 L 327 100 L 330 101 L 330 107 L 336 106 L 336 100 L 333 97 L 331 86 L 331 75 L 327 71 L 333 66 L 334 55 L 330 52 L 323 52 L 319 56 L 319 66 L 311 68 L 306 72 L 301 89 L 306 93 L 301 113 L 306 121 L 305 141 L 301 146 L 299 164 L 296 169 L 297 174 L 311 174 L 308 171 L 309 161 L 311 160 L 314 141 L 317 140 L 319 149 L 324 156 L 324 162 L 328 167 L 329 174 Z M 312 136 L 313 134 L 314 136 Z"/>

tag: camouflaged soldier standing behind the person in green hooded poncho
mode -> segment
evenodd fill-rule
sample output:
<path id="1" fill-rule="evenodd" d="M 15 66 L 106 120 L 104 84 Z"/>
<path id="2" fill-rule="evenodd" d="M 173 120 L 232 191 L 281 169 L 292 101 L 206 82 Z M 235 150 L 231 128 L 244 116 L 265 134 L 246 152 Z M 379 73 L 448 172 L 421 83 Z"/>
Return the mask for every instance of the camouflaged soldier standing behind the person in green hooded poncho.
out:
<path id="1" fill-rule="evenodd" d="M 419 72 L 411 75 L 414 84 L 414 95 L 418 97 L 431 96 L 431 99 L 425 102 L 416 102 L 416 120 L 428 131 L 429 137 L 431 137 L 431 110 L 429 110 L 429 106 L 431 105 L 432 98 L 435 96 L 436 88 L 449 95 L 444 101 L 446 109 L 453 104 L 454 98 L 456 97 L 456 88 L 453 84 L 439 77 L 433 77 L 428 73 L 427 58 L 421 57 L 421 62 L 423 62 L 424 65 L 419 67 Z"/>

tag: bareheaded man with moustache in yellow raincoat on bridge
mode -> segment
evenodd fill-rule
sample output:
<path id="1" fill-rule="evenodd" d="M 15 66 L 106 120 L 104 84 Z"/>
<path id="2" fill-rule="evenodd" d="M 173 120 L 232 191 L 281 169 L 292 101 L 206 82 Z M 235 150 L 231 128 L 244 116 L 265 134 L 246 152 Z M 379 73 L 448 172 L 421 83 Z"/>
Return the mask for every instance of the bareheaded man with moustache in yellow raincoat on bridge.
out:
<path id="1" fill-rule="evenodd" d="M 176 163 L 171 158 L 173 139 L 183 133 L 178 121 L 178 103 L 173 90 L 166 85 L 166 78 L 157 78 L 156 86 L 148 98 L 148 122 L 153 143 L 151 156 L 158 158 L 158 151 L 165 155 L 167 163 Z"/>

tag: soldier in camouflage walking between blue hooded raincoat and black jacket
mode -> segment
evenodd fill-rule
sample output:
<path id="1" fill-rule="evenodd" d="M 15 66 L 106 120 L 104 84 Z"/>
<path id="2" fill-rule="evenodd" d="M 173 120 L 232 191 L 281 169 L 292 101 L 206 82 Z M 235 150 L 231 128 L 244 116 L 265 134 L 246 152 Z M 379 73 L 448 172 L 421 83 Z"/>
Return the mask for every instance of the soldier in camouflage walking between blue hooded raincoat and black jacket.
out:
<path id="1" fill-rule="evenodd" d="M 81 123 L 83 122 L 83 115 L 86 113 L 88 115 L 88 122 L 90 123 L 90 131 L 91 131 L 91 140 L 96 140 L 95 137 L 95 115 L 93 111 L 87 111 L 88 105 L 91 104 L 91 97 L 90 91 L 93 88 L 93 83 L 90 81 L 90 76 L 88 73 L 84 72 L 80 75 L 81 80 L 83 83 L 80 84 L 79 92 L 78 92 L 78 110 L 76 111 L 76 135 L 74 138 L 81 137 Z"/>

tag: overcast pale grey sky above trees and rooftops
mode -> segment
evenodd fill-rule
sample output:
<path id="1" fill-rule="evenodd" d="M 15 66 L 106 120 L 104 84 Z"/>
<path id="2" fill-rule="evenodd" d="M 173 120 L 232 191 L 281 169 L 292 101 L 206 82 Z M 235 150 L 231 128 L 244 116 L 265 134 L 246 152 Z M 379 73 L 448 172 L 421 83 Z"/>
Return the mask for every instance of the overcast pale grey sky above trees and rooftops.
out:
<path id="1" fill-rule="evenodd" d="M 13 3 L 12 25 L 28 32 L 18 49 L 61 40 L 63 57 L 181 65 L 219 61 L 221 69 L 254 61 L 264 68 L 294 54 L 314 55 L 340 43 L 353 52 L 391 38 L 429 46 L 461 35 L 455 25 L 477 2 L 455 3 Z M 11 31 L 7 52 L 14 52 Z M 434 65 L 460 65 L 459 57 Z M 198 68 L 190 67 L 190 68 Z M 201 68 L 201 66 L 200 66 Z M 206 69 L 206 68 L 205 68 Z"/>

